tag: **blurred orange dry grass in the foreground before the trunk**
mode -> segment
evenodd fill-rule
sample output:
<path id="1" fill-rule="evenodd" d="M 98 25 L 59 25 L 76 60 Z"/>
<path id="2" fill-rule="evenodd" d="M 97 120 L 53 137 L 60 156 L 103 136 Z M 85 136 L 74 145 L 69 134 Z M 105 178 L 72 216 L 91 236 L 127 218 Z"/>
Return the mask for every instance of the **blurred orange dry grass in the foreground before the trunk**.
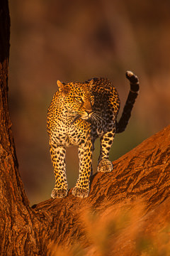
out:
<path id="1" fill-rule="evenodd" d="M 109 256 L 109 255 L 170 255 L 170 223 L 159 225 L 152 217 L 150 230 L 145 206 L 111 207 L 103 213 L 86 210 L 80 217 L 86 241 L 75 242 L 67 248 L 52 245 L 48 256 Z"/>

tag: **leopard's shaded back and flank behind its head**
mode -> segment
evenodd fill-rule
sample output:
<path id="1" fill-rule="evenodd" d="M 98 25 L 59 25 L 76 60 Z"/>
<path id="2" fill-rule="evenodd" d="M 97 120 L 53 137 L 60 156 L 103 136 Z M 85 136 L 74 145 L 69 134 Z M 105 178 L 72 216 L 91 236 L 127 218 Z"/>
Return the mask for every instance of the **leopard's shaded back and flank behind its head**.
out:
<path id="1" fill-rule="evenodd" d="M 91 93 L 94 95 L 94 105 L 90 122 L 93 139 L 113 129 L 120 108 L 120 99 L 118 91 L 107 78 L 92 79 L 94 83 L 91 86 Z"/>

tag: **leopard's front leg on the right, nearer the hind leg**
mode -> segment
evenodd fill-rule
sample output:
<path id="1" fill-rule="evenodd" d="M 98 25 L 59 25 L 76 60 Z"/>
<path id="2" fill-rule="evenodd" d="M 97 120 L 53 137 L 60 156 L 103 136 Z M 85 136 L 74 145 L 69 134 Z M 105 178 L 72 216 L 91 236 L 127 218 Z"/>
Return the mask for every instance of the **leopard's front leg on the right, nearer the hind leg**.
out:
<path id="1" fill-rule="evenodd" d="M 79 178 L 72 194 L 79 198 L 89 196 L 89 183 L 91 176 L 92 143 L 91 139 L 78 146 L 79 152 Z"/>

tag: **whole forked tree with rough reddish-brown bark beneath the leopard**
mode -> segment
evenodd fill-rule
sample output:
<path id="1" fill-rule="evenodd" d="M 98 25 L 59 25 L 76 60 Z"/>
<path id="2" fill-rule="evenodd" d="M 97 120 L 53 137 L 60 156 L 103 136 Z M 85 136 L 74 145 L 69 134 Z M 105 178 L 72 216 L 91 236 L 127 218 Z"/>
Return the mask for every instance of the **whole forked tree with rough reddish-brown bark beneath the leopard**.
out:
<path id="1" fill-rule="evenodd" d="M 8 1 L 1 0 L 0 255 L 139 255 L 154 248 L 154 238 L 170 218 L 170 126 L 114 161 L 111 173 L 94 174 L 88 198 L 69 191 L 67 198 L 29 206 L 8 113 L 9 29 Z M 129 213 L 131 219 L 120 221 Z M 116 228 L 108 229 L 106 220 Z M 165 235 L 168 239 L 169 232 Z M 146 236 L 152 243 L 141 247 Z"/>

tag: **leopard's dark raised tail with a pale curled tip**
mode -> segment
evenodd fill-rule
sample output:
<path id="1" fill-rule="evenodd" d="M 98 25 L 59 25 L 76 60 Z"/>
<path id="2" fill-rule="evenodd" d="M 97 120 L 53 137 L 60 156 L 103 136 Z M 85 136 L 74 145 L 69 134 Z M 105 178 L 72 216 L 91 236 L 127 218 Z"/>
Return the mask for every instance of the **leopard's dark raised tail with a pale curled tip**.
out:
<path id="1" fill-rule="evenodd" d="M 130 80 L 130 92 L 128 95 L 128 99 L 125 102 L 125 107 L 123 108 L 123 114 L 120 117 L 119 122 L 116 123 L 116 133 L 125 131 L 125 128 L 127 127 L 131 116 L 132 107 L 135 103 L 140 89 L 139 80 L 136 75 L 134 75 L 131 71 L 127 71 L 125 75 L 126 78 Z"/>

